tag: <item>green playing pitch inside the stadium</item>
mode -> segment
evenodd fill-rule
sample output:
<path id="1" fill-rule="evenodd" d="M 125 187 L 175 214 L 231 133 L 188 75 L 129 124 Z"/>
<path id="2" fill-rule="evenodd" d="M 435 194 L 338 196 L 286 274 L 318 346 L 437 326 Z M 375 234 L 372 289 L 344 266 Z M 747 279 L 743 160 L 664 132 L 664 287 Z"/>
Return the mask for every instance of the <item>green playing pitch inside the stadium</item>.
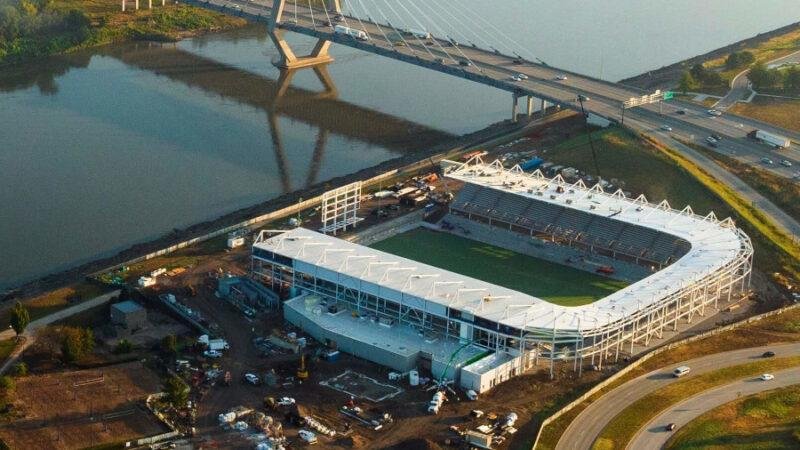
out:
<path id="1" fill-rule="evenodd" d="M 425 228 L 398 234 L 371 247 L 563 306 L 592 303 L 628 285 L 624 281 Z"/>

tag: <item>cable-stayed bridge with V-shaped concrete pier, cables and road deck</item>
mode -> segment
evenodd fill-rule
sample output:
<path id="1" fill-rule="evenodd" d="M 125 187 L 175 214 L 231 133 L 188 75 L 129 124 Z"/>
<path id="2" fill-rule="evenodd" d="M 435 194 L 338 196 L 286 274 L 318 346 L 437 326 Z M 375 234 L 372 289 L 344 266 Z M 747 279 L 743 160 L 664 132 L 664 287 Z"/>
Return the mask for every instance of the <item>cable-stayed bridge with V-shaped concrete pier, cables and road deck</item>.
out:
<path id="1" fill-rule="evenodd" d="M 688 102 L 654 102 L 626 110 L 623 104 L 632 98 L 655 96 L 552 67 L 517 43 L 501 26 L 457 1 L 188 0 L 188 3 L 266 24 L 280 52 L 275 63 L 288 70 L 333 61 L 328 49 L 336 43 L 507 91 L 511 94 L 512 120 L 517 120 L 522 103 L 527 115 L 536 108 L 569 108 L 624 122 L 639 132 L 669 134 L 700 145 L 710 135 L 722 135 L 730 138 L 725 140 L 726 151 L 755 163 L 767 149 L 747 138 L 753 129 L 800 142 L 800 133 L 731 114 L 715 117 L 701 105 Z M 284 40 L 287 31 L 316 38 L 317 44 L 310 54 L 296 55 Z M 789 150 L 785 157 L 800 163 L 798 150 Z M 790 175 L 789 171 L 783 172 L 779 174 Z"/>

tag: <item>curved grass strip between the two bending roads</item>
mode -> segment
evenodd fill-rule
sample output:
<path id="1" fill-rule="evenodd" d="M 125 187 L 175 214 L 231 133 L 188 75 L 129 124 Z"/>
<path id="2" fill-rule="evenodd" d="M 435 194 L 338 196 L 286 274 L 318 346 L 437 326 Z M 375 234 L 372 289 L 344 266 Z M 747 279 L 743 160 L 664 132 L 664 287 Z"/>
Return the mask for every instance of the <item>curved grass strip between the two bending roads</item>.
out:
<path id="1" fill-rule="evenodd" d="M 726 367 L 670 384 L 628 406 L 603 429 L 594 450 L 624 448 L 636 432 L 671 405 L 735 380 L 800 365 L 800 357 L 778 358 Z"/>

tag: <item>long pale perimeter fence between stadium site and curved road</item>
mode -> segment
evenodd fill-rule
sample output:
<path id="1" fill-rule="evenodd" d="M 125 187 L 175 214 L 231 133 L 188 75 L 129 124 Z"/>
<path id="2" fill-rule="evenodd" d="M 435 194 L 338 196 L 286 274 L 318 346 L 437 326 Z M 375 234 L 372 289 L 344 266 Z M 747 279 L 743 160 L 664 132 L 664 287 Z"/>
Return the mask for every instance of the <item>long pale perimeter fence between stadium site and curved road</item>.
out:
<path id="1" fill-rule="evenodd" d="M 562 415 L 566 414 L 567 412 L 569 412 L 570 410 L 572 410 L 576 406 L 580 405 L 581 403 L 586 401 L 592 395 L 600 392 L 602 389 L 604 389 L 607 386 L 610 386 L 611 384 L 615 383 L 617 380 L 619 380 L 620 378 L 622 378 L 625 375 L 627 375 L 633 369 L 641 366 L 645 361 L 649 360 L 650 358 L 652 358 L 652 357 L 654 357 L 656 355 L 659 355 L 659 354 L 661 354 L 661 353 L 663 353 L 663 352 L 665 352 L 667 350 L 671 350 L 671 349 L 673 349 L 675 347 L 679 347 L 679 346 L 684 345 L 684 344 L 689 344 L 691 342 L 699 341 L 699 340 L 705 339 L 707 337 L 715 336 L 717 334 L 724 333 L 726 331 L 735 330 L 735 329 L 737 329 L 737 328 L 739 328 L 741 326 L 748 325 L 748 324 L 751 324 L 751 323 L 754 323 L 754 322 L 758 322 L 761 319 L 765 319 L 767 317 L 776 316 L 778 314 L 782 314 L 782 313 L 784 313 L 786 311 L 791 311 L 791 310 L 797 309 L 797 308 L 800 308 L 800 303 L 796 303 L 796 304 L 790 305 L 790 306 L 785 306 L 783 308 L 778 308 L 778 309 L 773 310 L 773 311 L 768 311 L 768 312 L 765 312 L 763 314 L 758 314 L 758 315 L 749 317 L 747 319 L 740 320 L 739 322 L 735 322 L 735 323 L 732 323 L 732 324 L 729 324 L 729 325 L 725 325 L 724 327 L 719 327 L 719 328 L 715 328 L 713 330 L 709 330 L 709 331 L 706 331 L 706 332 L 703 332 L 703 333 L 700 333 L 700 334 L 696 334 L 694 336 L 690 336 L 690 337 L 687 337 L 685 339 L 681 339 L 679 341 L 675 341 L 675 342 L 673 342 L 671 344 L 668 344 L 668 345 L 665 345 L 663 347 L 655 348 L 652 351 L 643 354 L 636 361 L 633 361 L 632 363 L 630 363 L 627 366 L 623 367 L 622 369 L 620 369 L 619 372 L 617 372 L 617 373 L 611 375 L 610 377 L 606 378 L 605 380 L 601 381 L 600 383 L 595 385 L 593 388 L 591 388 L 588 391 L 586 391 L 583 395 L 581 395 L 580 397 L 576 398 L 572 402 L 568 403 L 566 406 L 564 406 L 563 408 L 559 409 L 558 411 L 554 412 L 550 417 L 544 419 L 542 421 L 542 424 L 539 426 L 539 431 L 536 433 L 536 439 L 533 441 L 533 446 L 531 448 L 533 450 L 536 450 L 536 445 L 539 443 L 539 439 L 541 439 L 541 437 L 542 437 L 542 431 L 544 430 L 544 428 L 547 425 L 553 423 L 556 419 L 558 419 Z"/>

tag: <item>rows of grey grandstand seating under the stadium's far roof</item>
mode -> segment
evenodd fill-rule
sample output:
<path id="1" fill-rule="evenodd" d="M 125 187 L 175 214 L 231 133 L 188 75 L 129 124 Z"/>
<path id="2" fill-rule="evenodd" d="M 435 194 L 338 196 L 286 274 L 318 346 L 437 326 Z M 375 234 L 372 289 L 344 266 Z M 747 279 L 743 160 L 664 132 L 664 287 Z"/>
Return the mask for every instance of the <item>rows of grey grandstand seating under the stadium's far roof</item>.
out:
<path id="1" fill-rule="evenodd" d="M 687 241 L 666 233 L 470 183 L 464 185 L 451 208 L 641 258 L 643 264 L 669 264 L 690 249 Z"/>

